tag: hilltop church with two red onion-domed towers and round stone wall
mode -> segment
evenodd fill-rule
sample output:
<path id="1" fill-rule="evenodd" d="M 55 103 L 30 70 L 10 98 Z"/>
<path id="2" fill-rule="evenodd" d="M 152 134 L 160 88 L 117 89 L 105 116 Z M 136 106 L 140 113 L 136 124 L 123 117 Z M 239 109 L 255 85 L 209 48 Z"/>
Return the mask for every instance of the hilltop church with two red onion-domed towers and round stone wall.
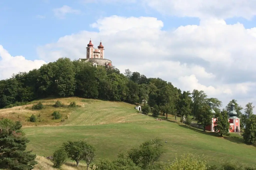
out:
<path id="1" fill-rule="evenodd" d="M 86 47 L 86 58 L 79 58 L 79 62 L 90 62 L 95 67 L 100 65 L 106 68 L 112 68 L 112 61 L 104 58 L 104 50 L 105 49 L 101 41 L 98 48 L 94 48 L 92 40 L 90 39 L 89 44 L 87 44 Z"/>

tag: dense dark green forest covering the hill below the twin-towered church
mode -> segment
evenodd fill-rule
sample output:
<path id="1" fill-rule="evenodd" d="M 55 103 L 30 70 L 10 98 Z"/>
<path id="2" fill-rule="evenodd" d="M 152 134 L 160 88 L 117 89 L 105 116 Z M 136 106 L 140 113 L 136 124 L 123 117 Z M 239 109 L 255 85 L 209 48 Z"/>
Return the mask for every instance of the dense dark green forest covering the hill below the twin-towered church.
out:
<path id="1" fill-rule="evenodd" d="M 207 100 L 203 91 L 194 90 L 192 98 L 197 100 L 192 101 L 190 92 L 182 93 L 172 83 L 160 78 L 146 78 L 129 69 L 124 75 L 116 68 L 93 67 L 90 63 L 79 63 L 69 58 L 59 58 L 39 69 L 20 72 L 12 78 L 0 81 L 0 108 L 50 95 L 129 103 L 142 103 L 145 100 L 151 107 L 166 106 L 166 112 L 184 115 L 191 111 L 195 115 L 198 106 L 202 104 L 199 101 L 206 103 L 210 100 Z M 217 107 L 221 105 L 217 99 L 212 101 L 216 101 Z"/>

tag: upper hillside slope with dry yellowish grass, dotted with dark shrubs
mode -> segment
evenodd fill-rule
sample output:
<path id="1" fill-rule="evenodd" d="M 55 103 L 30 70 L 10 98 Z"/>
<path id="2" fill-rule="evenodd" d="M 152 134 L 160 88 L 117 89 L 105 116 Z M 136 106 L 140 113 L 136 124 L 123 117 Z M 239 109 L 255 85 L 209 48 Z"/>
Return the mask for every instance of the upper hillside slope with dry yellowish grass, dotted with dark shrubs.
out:
<path id="1" fill-rule="evenodd" d="M 65 107 L 54 107 L 59 100 Z M 70 102 L 76 102 L 80 107 L 69 108 Z M 32 110 L 32 106 L 42 102 L 42 110 Z M 51 114 L 58 111 L 62 114 L 60 119 L 53 119 Z M 29 122 L 29 117 L 37 116 L 36 122 Z M 0 109 L 0 118 L 20 120 L 23 127 L 28 126 L 57 126 L 57 125 L 95 125 L 105 123 L 140 122 L 142 120 L 153 120 L 148 116 L 142 117 L 135 109 L 135 105 L 124 102 L 111 102 L 93 99 L 70 98 L 48 98 L 30 102 L 28 105 Z M 62 121 L 61 121 L 62 119 Z"/>

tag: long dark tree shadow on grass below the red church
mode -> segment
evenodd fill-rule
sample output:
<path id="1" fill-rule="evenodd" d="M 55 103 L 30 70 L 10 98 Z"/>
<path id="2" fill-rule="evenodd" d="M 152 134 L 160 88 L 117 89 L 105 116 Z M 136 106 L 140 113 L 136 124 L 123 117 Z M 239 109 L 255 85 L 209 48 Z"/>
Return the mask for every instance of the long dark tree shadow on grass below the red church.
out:
<path id="1" fill-rule="evenodd" d="M 228 140 L 228 141 L 231 141 L 231 142 L 234 142 L 234 143 L 243 143 L 244 144 L 244 141 L 243 139 L 239 138 L 238 136 L 228 136 L 228 137 L 220 137 L 218 135 L 218 133 L 215 133 L 215 132 L 209 132 L 209 131 L 203 131 L 201 129 L 197 129 L 195 127 L 191 127 L 191 126 L 186 126 L 186 125 L 179 125 L 180 127 L 183 127 L 183 128 L 186 128 L 186 129 L 191 129 L 191 130 L 194 130 L 195 132 L 199 132 L 199 133 L 202 133 L 202 134 L 205 134 L 205 135 L 209 135 L 209 136 L 214 136 L 214 137 L 218 137 L 218 138 L 223 138 L 225 140 Z"/>

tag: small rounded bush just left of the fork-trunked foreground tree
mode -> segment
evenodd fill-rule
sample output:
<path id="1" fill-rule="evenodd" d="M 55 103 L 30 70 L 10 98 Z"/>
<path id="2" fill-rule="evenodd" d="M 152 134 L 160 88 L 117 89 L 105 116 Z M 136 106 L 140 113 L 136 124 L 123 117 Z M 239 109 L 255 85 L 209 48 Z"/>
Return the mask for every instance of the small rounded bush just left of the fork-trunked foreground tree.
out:
<path id="1" fill-rule="evenodd" d="M 67 157 L 67 153 L 64 149 L 60 148 L 55 150 L 52 157 L 53 167 L 61 168 L 61 166 L 66 162 Z"/>

